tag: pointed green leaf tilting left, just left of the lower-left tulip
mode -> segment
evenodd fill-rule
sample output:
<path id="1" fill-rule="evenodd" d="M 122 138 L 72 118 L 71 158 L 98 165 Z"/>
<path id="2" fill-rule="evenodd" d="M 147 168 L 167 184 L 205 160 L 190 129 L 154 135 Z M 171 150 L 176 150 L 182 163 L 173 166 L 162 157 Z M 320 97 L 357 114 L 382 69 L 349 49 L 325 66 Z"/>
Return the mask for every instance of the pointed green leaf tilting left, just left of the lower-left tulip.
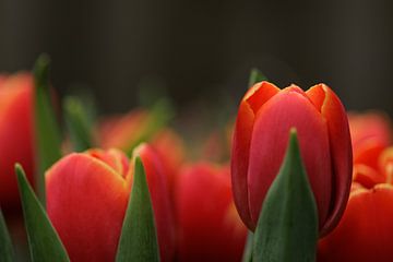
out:
<path id="1" fill-rule="evenodd" d="M 27 231 L 32 261 L 70 261 L 61 240 L 43 205 L 34 194 L 21 165 L 15 165 L 22 210 Z"/>

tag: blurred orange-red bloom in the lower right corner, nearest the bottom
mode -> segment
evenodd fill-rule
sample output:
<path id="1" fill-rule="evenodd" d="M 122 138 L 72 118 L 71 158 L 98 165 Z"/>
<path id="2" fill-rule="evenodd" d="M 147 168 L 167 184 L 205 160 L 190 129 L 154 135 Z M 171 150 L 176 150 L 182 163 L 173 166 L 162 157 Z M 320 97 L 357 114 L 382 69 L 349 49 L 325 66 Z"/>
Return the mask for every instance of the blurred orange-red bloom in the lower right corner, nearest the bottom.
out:
<path id="1" fill-rule="evenodd" d="M 338 226 L 319 242 L 320 262 L 392 261 L 393 147 L 385 148 L 374 169 L 354 168 L 354 182 Z"/>

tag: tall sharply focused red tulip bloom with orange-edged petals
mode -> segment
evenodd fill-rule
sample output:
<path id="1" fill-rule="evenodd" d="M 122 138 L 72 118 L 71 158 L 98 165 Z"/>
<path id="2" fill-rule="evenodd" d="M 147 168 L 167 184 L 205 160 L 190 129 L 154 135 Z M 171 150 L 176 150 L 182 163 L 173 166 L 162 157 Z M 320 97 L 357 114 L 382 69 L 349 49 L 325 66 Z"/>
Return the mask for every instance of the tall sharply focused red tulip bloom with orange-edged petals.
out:
<path id="1" fill-rule="evenodd" d="M 303 92 L 296 85 L 279 90 L 261 82 L 247 92 L 234 131 L 231 176 L 236 207 L 248 228 L 254 230 L 293 127 L 298 132 L 323 236 L 338 223 L 352 180 L 348 120 L 338 97 L 324 84 Z"/>

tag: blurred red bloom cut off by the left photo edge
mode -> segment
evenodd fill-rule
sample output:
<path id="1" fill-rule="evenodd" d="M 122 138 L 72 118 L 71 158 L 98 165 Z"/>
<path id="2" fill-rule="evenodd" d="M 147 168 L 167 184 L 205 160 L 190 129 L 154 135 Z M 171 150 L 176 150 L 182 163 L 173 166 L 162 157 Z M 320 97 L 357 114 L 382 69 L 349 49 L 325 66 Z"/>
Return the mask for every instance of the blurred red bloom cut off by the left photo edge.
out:
<path id="1" fill-rule="evenodd" d="M 5 213 L 19 205 L 14 165 L 34 175 L 33 78 L 0 75 L 0 205 Z"/>

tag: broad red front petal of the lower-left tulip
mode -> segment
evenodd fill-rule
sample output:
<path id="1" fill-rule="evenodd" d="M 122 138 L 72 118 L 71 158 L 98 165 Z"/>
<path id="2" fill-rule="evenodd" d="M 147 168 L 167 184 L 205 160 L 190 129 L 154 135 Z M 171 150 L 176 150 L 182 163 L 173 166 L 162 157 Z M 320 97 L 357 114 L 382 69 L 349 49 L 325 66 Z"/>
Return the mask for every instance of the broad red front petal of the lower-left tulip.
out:
<path id="1" fill-rule="evenodd" d="M 109 165 L 73 153 L 46 172 L 47 211 L 71 261 L 114 261 L 130 183 Z"/>

